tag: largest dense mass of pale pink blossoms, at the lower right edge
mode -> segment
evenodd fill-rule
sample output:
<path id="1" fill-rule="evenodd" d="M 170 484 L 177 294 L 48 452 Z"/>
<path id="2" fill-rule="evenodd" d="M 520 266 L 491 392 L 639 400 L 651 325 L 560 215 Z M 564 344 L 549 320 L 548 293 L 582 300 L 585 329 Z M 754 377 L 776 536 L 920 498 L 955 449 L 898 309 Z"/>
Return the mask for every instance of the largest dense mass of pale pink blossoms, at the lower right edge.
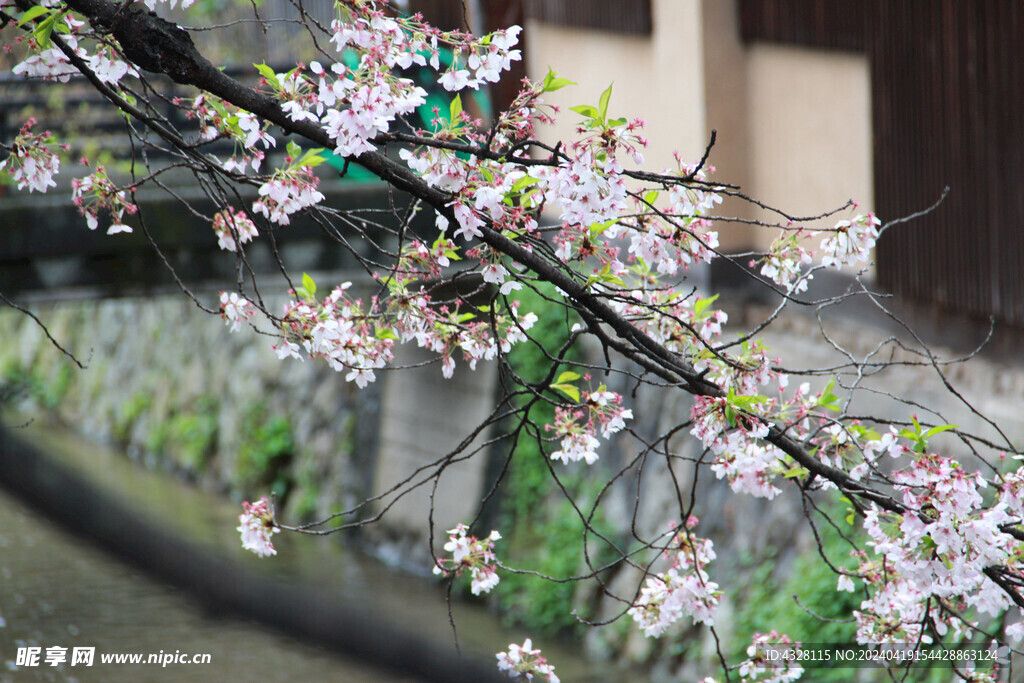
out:
<path id="1" fill-rule="evenodd" d="M 1013 581 L 1024 577 L 1024 549 L 1002 530 L 1021 521 L 1022 510 L 1007 493 L 1013 484 L 986 507 L 982 489 L 988 482 L 980 474 L 948 457 L 914 455 L 891 475 L 906 512 L 876 508 L 863 521 L 877 557 L 862 556 L 857 569 L 870 588 L 854 612 L 859 642 L 930 642 L 926 622 L 939 635 L 969 636 L 965 611 L 997 616 L 1012 606 L 989 571 L 1007 571 Z"/>

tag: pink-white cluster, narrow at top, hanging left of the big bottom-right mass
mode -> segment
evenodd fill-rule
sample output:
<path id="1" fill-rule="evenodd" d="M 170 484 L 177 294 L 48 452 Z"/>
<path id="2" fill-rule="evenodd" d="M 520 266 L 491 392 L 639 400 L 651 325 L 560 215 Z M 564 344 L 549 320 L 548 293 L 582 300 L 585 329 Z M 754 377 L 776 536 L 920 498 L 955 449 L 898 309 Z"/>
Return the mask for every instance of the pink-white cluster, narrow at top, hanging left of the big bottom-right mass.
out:
<path id="1" fill-rule="evenodd" d="M 673 535 L 664 553 L 671 562 L 669 570 L 648 577 L 640 597 L 627 612 L 645 636 L 660 636 L 684 614 L 694 623 L 715 623 L 721 592 L 707 571 L 715 559 L 715 548 L 709 539 L 690 531 L 696 523 L 691 516 L 685 527 Z"/>

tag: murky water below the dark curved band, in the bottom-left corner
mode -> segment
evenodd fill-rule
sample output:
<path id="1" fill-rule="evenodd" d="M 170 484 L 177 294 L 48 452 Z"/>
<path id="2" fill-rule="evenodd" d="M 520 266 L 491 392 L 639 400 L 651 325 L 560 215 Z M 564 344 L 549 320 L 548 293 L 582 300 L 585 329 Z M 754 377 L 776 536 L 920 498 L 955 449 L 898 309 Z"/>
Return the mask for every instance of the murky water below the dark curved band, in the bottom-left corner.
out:
<path id="1" fill-rule="evenodd" d="M 398 681 L 256 626 L 211 618 L 174 589 L 0 496 L 2 681 Z M 16 671 L 18 646 L 95 647 L 91 668 Z M 210 653 L 204 665 L 101 665 L 99 653 Z M 409 679 L 404 679 L 409 680 Z"/>

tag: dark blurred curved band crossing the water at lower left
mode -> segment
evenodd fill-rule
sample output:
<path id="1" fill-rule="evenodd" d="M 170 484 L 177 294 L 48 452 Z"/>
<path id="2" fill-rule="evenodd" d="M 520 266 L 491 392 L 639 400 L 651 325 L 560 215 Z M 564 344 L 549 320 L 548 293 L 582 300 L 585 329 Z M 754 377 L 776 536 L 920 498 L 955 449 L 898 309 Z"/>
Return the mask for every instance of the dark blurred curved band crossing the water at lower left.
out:
<path id="1" fill-rule="evenodd" d="M 10 429 L 0 429 L 0 485 L 66 529 L 170 584 L 205 609 L 424 681 L 503 681 L 493 661 L 401 631 L 366 606 L 264 575 L 169 532 Z"/>

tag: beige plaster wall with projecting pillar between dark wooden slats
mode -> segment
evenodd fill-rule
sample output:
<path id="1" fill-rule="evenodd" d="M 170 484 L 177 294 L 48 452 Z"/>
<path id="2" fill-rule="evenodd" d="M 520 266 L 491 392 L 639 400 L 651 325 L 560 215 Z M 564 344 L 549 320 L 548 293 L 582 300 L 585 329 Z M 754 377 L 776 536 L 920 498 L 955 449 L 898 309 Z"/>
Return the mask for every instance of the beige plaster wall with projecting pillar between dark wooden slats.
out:
<path id="1" fill-rule="evenodd" d="M 548 96 L 567 110 L 596 104 L 614 83 L 610 114 L 647 122 L 648 170 L 690 163 L 712 129 L 715 178 L 796 216 L 853 199 L 872 208 L 870 88 L 862 54 L 739 39 L 736 0 L 652 0 L 653 33 L 627 36 L 530 22 L 527 72 L 548 67 L 577 81 Z M 563 111 L 542 139 L 573 136 L 580 117 Z M 722 215 L 771 217 L 741 202 Z M 844 214 L 845 215 L 845 214 Z M 771 217 L 775 220 L 777 217 Z M 835 219 L 823 221 L 828 225 Z M 720 223 L 723 248 L 766 248 L 775 230 Z"/>

